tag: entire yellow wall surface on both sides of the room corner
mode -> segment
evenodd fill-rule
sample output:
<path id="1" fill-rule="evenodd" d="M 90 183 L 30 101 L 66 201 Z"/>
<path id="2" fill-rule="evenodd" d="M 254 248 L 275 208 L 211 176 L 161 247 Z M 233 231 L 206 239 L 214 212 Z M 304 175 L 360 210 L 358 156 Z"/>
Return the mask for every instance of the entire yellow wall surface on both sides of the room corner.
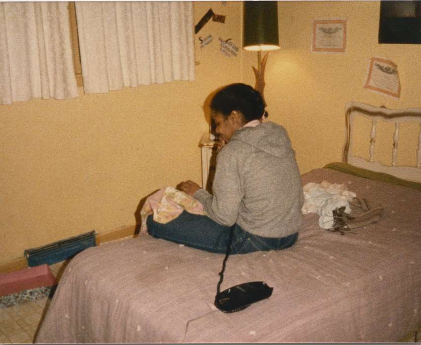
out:
<path id="1" fill-rule="evenodd" d="M 241 46 L 241 2 L 195 2 L 196 80 L 125 88 L 73 100 L 0 105 L 0 264 L 24 249 L 95 229 L 135 224 L 142 198 L 186 179 L 200 183 L 198 141 L 208 124 L 202 108 L 219 86 L 254 85 L 257 54 L 219 51 L 219 37 Z M 281 49 L 270 53 L 265 98 L 270 119 L 288 130 L 301 173 L 340 161 L 348 101 L 420 107 L 420 45 L 377 43 L 379 1 L 280 1 Z M 312 54 L 313 18 L 346 18 L 347 51 Z M 198 37 L 213 42 L 200 48 Z M 392 99 L 363 89 L 368 61 L 398 65 L 402 92 Z"/>

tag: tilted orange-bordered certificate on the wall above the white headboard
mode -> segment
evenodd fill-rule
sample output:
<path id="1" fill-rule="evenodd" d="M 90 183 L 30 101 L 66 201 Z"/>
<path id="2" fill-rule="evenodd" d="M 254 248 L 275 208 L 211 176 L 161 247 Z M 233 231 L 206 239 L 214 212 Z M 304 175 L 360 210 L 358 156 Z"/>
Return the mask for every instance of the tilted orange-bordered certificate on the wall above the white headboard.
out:
<path id="1" fill-rule="evenodd" d="M 399 98 L 401 85 L 397 65 L 382 58 L 371 58 L 364 88 Z"/>

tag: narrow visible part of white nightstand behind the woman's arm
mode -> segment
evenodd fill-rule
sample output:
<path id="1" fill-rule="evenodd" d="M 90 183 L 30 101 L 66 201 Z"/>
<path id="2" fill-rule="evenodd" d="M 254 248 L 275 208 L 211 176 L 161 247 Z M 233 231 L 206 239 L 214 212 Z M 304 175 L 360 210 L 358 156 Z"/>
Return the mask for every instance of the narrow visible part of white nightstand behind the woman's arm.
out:
<path id="1" fill-rule="evenodd" d="M 210 133 L 203 134 L 199 142 L 202 158 L 202 187 L 212 193 L 212 182 L 215 176 L 216 148 L 215 141 L 211 139 Z"/>

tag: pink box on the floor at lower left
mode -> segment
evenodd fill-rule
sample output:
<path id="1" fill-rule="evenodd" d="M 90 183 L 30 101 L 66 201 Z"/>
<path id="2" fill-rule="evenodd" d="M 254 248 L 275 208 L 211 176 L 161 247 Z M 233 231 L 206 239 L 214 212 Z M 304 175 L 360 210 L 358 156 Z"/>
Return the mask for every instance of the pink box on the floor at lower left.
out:
<path id="1" fill-rule="evenodd" d="M 56 278 L 46 264 L 16 272 L 0 273 L 0 296 L 55 284 Z"/>

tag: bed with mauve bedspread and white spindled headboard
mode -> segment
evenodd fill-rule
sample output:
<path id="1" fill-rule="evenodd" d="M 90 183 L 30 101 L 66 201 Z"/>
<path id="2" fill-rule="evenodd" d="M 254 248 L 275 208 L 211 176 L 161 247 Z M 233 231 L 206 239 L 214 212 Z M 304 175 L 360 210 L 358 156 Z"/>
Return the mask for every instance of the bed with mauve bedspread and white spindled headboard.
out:
<path id="1" fill-rule="evenodd" d="M 358 116 L 371 121 L 368 159 L 352 154 Z M 231 255 L 221 290 L 259 280 L 273 287 L 270 298 L 234 313 L 213 305 L 223 254 L 148 235 L 88 248 L 67 266 L 37 343 L 396 342 L 415 334 L 421 109 L 348 103 L 345 119 L 343 162 L 304 174 L 303 185 L 345 184 L 371 207 L 384 207 L 378 222 L 341 235 L 308 213 L 291 248 Z M 381 121 L 394 128 L 389 168 L 376 160 Z M 409 123 L 416 162 L 398 167 L 400 129 Z"/>

